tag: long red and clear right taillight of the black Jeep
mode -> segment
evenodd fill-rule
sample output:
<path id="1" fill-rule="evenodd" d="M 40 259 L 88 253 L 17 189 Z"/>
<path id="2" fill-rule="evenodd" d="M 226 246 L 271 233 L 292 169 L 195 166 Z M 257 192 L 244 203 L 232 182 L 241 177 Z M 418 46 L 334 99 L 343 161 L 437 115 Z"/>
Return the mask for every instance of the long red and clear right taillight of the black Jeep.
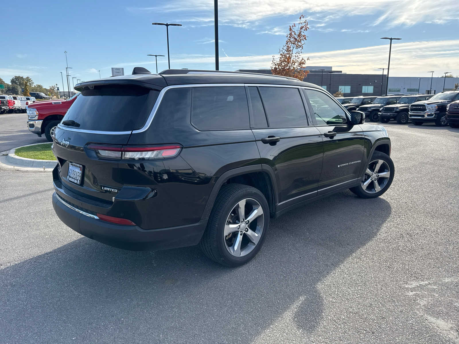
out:
<path id="1" fill-rule="evenodd" d="M 157 146 L 116 146 L 109 144 L 88 144 L 100 159 L 108 160 L 155 160 L 174 158 L 179 155 L 180 144 Z"/>

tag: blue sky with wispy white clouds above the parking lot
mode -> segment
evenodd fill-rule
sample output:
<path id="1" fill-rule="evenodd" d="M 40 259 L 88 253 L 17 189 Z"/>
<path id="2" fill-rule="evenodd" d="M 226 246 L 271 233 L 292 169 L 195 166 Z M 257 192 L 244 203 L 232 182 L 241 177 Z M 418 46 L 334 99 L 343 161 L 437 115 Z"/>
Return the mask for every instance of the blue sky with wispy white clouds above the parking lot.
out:
<path id="1" fill-rule="evenodd" d="M 155 72 L 154 57 L 167 55 L 166 30 L 151 22 L 177 22 L 169 30 L 171 67 L 214 69 L 213 0 L 23 1 L 21 18 L 3 17 L 0 77 L 30 76 L 45 87 L 65 74 L 82 80 L 111 74 L 110 67 L 135 66 Z M 368 6 L 371 4 L 371 6 Z M 308 18 L 304 47 L 310 66 L 333 66 L 348 73 L 380 73 L 392 46 L 391 76 L 459 74 L 459 1 L 375 0 L 371 3 L 313 0 L 220 0 L 220 69 L 269 68 L 285 42 L 288 25 Z M 28 10 L 25 10 L 28 9 Z M 2 13 L 16 13 L 5 1 Z M 14 49 L 12 49 L 14 47 Z M 160 57 L 158 70 L 167 68 Z M 65 79 L 64 79 L 65 81 Z M 67 88 L 67 87 L 66 87 Z"/>

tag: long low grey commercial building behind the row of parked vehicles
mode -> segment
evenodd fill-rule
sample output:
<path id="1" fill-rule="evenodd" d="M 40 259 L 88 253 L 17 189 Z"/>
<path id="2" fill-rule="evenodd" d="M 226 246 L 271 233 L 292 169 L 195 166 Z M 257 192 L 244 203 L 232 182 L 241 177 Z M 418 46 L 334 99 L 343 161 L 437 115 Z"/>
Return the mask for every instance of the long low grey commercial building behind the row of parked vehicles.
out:
<path id="1" fill-rule="evenodd" d="M 334 71 L 330 66 L 308 66 L 308 76 L 303 80 L 322 86 L 334 94 L 341 91 L 345 97 L 356 95 L 381 95 L 386 94 L 386 74 L 347 74 Z M 240 69 L 237 72 L 252 72 L 271 74 L 270 69 Z M 431 88 L 432 81 L 432 88 Z M 454 89 L 459 78 L 431 78 L 430 77 L 389 77 L 387 94 L 436 94 L 442 92 L 443 82 L 445 91 Z"/>

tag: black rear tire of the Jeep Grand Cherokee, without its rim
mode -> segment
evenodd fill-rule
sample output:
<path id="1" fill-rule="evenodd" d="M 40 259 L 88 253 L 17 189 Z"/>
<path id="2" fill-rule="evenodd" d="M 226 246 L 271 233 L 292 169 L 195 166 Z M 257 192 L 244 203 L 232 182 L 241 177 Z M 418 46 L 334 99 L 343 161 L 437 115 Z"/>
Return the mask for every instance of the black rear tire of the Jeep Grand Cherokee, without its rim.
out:
<path id="1" fill-rule="evenodd" d="M 224 227 L 227 218 L 235 205 L 244 199 L 256 200 L 263 210 L 263 231 L 255 247 L 246 255 L 236 257 L 229 253 Z M 210 213 L 206 230 L 202 236 L 200 246 L 207 257 L 224 266 L 241 266 L 250 261 L 260 250 L 266 238 L 269 227 L 269 206 L 264 195 L 255 188 L 243 184 L 227 184 L 218 192 L 217 198 Z M 237 233 L 236 233 L 237 235 Z M 241 237 L 242 238 L 242 237 Z"/>

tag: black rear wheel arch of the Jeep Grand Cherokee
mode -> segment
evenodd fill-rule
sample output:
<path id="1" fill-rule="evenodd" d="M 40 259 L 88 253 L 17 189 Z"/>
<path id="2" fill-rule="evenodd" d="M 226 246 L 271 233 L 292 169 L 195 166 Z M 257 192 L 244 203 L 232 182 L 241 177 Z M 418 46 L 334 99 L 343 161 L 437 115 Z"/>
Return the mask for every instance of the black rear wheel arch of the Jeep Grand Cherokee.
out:
<path id="1" fill-rule="evenodd" d="M 258 189 L 268 202 L 270 216 L 274 217 L 276 213 L 276 204 L 278 202 L 277 184 L 275 180 L 272 167 L 265 164 L 243 166 L 224 172 L 215 182 L 201 218 L 205 219 L 210 216 L 218 192 L 223 185 L 229 183 L 250 185 Z"/>

